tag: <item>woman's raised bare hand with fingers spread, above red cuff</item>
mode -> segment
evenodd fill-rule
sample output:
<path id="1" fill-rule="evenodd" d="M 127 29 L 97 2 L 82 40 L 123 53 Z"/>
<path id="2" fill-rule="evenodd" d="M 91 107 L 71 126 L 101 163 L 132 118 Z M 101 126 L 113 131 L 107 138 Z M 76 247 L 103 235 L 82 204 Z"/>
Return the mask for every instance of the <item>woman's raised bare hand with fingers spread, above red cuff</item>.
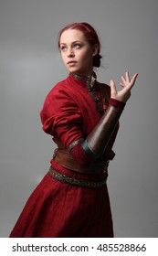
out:
<path id="1" fill-rule="evenodd" d="M 126 72 L 124 76 L 121 76 L 121 91 L 117 91 L 115 82 L 111 80 L 111 98 L 122 102 L 128 101 L 137 77 L 138 73 L 135 73 L 132 79 L 130 79 L 129 72 Z"/>

